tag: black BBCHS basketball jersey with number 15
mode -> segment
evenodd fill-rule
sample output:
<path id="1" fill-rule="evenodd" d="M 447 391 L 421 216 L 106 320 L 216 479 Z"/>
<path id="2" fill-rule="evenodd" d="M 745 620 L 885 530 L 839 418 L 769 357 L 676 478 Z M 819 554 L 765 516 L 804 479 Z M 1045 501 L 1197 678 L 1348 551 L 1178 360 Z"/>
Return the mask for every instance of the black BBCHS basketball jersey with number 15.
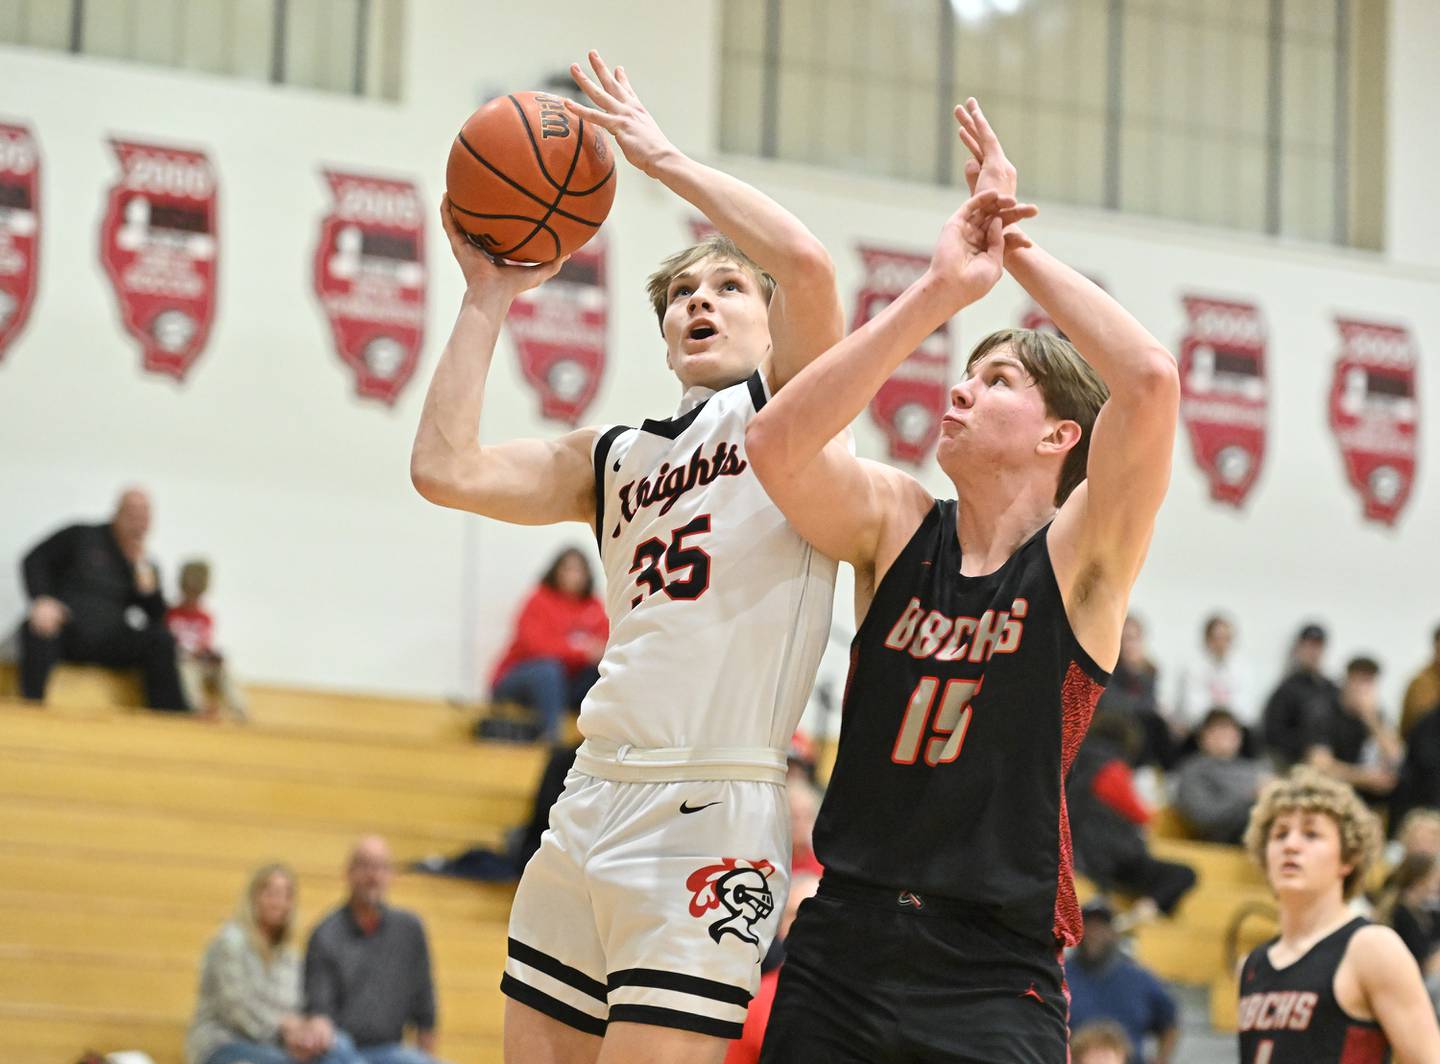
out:
<path id="1" fill-rule="evenodd" d="M 1064 777 L 1109 681 L 1070 629 L 1048 531 L 960 576 L 956 502 L 936 501 L 851 645 L 815 825 L 827 875 L 968 903 L 1047 946 L 1080 939 Z"/>

